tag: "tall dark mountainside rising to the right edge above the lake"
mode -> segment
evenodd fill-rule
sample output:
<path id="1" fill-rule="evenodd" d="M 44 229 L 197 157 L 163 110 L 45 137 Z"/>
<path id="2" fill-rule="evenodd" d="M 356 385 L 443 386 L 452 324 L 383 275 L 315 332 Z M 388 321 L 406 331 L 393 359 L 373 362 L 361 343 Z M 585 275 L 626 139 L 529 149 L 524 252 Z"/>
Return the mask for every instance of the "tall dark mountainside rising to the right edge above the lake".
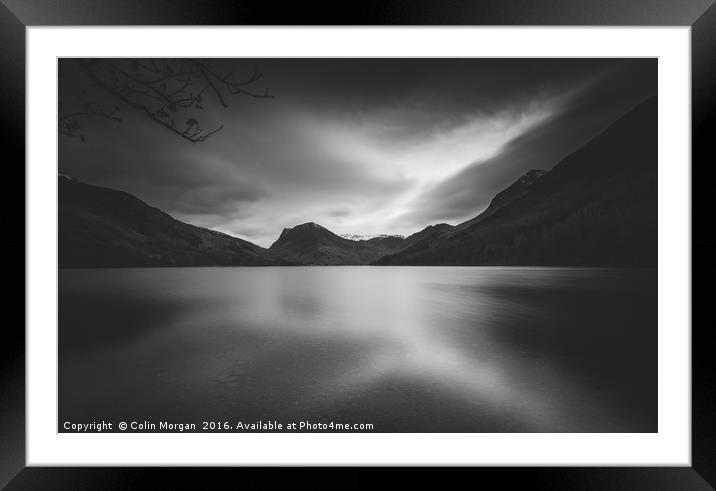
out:
<path id="1" fill-rule="evenodd" d="M 480 215 L 428 234 L 380 265 L 655 266 L 657 100 L 551 171 L 530 171 Z"/>

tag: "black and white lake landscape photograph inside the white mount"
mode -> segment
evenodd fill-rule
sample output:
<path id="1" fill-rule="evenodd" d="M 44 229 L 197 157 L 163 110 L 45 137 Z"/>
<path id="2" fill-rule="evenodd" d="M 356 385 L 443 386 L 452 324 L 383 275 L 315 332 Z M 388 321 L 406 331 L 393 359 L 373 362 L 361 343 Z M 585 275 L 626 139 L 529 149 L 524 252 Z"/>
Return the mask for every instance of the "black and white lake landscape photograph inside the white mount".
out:
<path id="1" fill-rule="evenodd" d="M 658 432 L 657 63 L 59 58 L 57 431 Z"/>

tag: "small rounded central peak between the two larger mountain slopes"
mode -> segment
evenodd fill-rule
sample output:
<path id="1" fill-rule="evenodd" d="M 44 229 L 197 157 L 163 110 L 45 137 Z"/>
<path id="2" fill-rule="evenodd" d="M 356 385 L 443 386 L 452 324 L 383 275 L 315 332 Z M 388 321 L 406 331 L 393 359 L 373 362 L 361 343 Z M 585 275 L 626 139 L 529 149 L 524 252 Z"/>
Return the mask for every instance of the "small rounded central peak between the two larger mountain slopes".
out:
<path id="1" fill-rule="evenodd" d="M 357 265 L 369 264 L 397 252 L 404 240 L 399 236 L 379 236 L 369 240 L 350 240 L 309 222 L 286 228 L 265 257 L 289 264 Z"/>

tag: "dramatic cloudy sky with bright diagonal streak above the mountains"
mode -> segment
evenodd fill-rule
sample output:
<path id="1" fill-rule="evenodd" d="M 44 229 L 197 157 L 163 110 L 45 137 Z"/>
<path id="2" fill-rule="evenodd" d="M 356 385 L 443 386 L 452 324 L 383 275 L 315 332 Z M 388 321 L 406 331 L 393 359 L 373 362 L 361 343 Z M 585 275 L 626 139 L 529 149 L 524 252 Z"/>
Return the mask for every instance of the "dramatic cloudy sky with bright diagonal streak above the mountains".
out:
<path id="1" fill-rule="evenodd" d="M 266 247 L 308 221 L 408 235 L 474 217 L 657 90 L 655 60 L 218 63 L 258 67 L 255 87 L 274 99 L 206 100 L 202 115 L 224 128 L 202 143 L 118 102 L 123 122 L 81 121 L 85 142 L 60 135 L 60 172 Z M 60 101 L 96 89 L 76 66 L 60 62 Z"/>

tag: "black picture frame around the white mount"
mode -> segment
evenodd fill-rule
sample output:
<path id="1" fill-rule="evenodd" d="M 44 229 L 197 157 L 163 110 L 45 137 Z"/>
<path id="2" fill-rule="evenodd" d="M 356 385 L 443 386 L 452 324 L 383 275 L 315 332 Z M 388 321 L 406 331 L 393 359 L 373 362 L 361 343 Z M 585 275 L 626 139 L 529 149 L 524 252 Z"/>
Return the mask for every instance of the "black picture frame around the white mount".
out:
<path id="1" fill-rule="evenodd" d="M 696 217 L 712 209 L 705 175 L 716 161 L 716 6 L 713 0 L 363 0 L 286 5 L 246 0 L 0 0 L 0 99 L 2 100 L 5 319 L 0 342 L 0 487 L 19 489 L 136 489 L 210 487 L 216 477 L 249 487 L 276 480 L 271 469 L 38 468 L 25 466 L 25 28 L 67 25 L 578 25 L 691 26 L 692 36 L 692 311 L 703 310 L 707 291 L 698 287 L 716 272 L 716 240 Z M 48 90 L 55 90 L 48 87 Z M 696 177 L 694 179 L 694 176 Z M 705 190 L 704 190 L 705 191 Z M 704 222 L 706 223 L 706 222 Z M 699 266 L 694 268 L 698 259 Z M 683 328 L 683 326 L 673 326 Z M 471 482 L 549 489 L 713 489 L 716 484 L 716 346 L 705 322 L 692 323 L 692 467 L 473 468 L 458 470 Z M 216 476 L 216 474 L 220 474 Z M 368 486 L 374 469 L 303 469 L 294 485 L 340 482 Z M 469 475 L 466 475 L 469 473 Z M 445 485 L 445 473 L 413 469 L 423 484 Z M 452 476 L 451 476 L 452 477 Z M 460 476 L 454 476 L 460 477 Z M 229 481 L 231 482 L 231 481 Z M 234 481 L 239 482 L 239 481 Z"/>

